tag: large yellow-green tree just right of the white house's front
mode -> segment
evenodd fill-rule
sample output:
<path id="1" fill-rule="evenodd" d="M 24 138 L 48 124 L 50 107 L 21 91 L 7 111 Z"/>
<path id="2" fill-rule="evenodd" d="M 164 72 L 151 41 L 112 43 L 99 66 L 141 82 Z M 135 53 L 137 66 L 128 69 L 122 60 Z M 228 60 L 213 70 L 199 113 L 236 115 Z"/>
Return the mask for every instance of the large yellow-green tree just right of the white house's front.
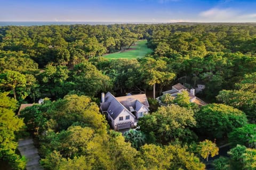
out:
<path id="1" fill-rule="evenodd" d="M 157 112 L 141 117 L 138 122 L 142 132 L 148 137 L 154 134 L 161 143 L 188 138 L 192 133 L 189 128 L 195 125 L 193 111 L 178 105 L 159 107 Z"/>

